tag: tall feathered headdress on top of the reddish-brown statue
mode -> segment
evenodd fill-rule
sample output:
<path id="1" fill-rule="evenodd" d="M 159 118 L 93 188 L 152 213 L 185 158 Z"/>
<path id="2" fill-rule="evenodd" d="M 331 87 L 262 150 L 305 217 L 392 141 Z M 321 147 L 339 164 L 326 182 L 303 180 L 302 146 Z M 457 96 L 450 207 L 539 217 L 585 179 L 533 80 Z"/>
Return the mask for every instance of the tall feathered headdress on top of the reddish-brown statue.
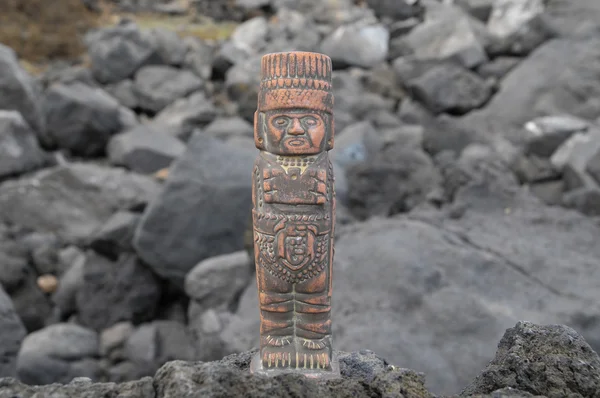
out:
<path id="1" fill-rule="evenodd" d="M 333 112 L 331 58 L 310 52 L 262 57 L 258 110 L 313 109 Z"/>

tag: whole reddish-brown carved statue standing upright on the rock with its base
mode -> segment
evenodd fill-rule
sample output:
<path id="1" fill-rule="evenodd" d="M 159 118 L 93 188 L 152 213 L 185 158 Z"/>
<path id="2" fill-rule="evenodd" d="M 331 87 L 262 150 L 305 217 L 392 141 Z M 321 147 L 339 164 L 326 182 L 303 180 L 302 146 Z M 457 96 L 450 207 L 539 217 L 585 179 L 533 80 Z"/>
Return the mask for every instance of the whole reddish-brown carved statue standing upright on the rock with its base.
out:
<path id="1" fill-rule="evenodd" d="M 262 58 L 252 178 L 261 322 L 252 372 L 339 375 L 331 345 L 331 70 L 331 59 L 317 53 Z"/>

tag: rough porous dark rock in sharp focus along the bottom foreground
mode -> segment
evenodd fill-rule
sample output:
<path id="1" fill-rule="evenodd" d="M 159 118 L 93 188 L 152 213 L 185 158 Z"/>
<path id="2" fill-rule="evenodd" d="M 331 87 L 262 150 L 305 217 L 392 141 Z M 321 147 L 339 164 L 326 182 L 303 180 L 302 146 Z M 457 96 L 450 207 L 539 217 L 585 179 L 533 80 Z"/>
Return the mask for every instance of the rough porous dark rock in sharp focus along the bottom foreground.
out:
<path id="1" fill-rule="evenodd" d="M 255 352 L 215 362 L 172 361 L 162 366 L 153 378 L 121 384 L 91 383 L 87 378 L 76 378 L 66 385 L 28 386 L 4 378 L 0 379 L 0 397 L 33 398 L 50 393 L 67 398 L 435 397 L 425 387 L 423 374 L 394 366 L 369 350 L 337 351 L 341 378 L 325 382 L 294 374 L 273 378 L 252 375 L 249 366 Z M 494 360 L 460 397 L 595 397 L 600 382 L 599 361 L 581 336 L 568 327 L 519 322 L 507 330 Z"/>

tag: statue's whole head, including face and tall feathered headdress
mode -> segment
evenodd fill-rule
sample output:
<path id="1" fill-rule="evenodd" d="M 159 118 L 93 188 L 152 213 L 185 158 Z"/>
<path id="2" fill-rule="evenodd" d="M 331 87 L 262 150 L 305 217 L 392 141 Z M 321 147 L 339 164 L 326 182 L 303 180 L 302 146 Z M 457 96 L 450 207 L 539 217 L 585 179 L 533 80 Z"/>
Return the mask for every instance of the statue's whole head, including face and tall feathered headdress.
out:
<path id="1" fill-rule="evenodd" d="M 277 155 L 315 155 L 333 148 L 331 59 L 308 52 L 262 58 L 256 147 Z"/>

